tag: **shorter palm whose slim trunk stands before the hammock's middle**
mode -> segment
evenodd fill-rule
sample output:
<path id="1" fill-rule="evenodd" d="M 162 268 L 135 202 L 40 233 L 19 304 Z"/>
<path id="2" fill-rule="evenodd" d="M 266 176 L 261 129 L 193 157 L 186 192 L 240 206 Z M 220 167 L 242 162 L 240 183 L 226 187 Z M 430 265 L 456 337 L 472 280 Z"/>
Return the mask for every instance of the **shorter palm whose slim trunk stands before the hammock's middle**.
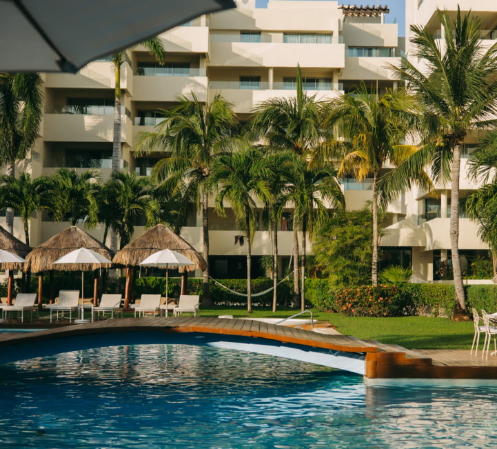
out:
<path id="1" fill-rule="evenodd" d="M 214 161 L 209 183 L 219 184 L 216 194 L 216 212 L 225 217 L 224 200 L 234 212 L 236 225 L 245 232 L 247 249 L 247 312 L 252 312 L 251 276 L 252 239 L 258 223 L 257 199 L 268 199 L 270 187 L 267 179 L 272 175 L 263 157 L 256 148 L 226 154 Z"/>

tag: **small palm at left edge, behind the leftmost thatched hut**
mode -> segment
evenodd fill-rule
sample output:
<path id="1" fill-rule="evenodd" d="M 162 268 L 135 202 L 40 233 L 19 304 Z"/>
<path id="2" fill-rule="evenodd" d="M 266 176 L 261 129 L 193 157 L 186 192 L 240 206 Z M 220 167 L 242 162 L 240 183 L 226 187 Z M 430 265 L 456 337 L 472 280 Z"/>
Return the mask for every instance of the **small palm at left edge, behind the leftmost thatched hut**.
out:
<path id="1" fill-rule="evenodd" d="M 21 173 L 19 178 L 9 175 L 0 177 L 1 207 L 17 210 L 23 221 L 26 245 L 30 246 L 30 219 L 34 212 L 50 209 L 50 179 L 32 179 L 29 173 Z"/>

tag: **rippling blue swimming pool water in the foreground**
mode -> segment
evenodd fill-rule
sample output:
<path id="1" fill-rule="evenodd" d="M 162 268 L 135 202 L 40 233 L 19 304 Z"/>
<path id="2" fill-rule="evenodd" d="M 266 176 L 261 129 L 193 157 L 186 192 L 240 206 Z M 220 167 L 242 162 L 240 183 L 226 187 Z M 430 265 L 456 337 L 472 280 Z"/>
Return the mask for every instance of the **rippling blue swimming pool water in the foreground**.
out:
<path id="1" fill-rule="evenodd" d="M 385 382 L 183 345 L 0 366 L 2 448 L 491 448 L 497 386 Z"/>

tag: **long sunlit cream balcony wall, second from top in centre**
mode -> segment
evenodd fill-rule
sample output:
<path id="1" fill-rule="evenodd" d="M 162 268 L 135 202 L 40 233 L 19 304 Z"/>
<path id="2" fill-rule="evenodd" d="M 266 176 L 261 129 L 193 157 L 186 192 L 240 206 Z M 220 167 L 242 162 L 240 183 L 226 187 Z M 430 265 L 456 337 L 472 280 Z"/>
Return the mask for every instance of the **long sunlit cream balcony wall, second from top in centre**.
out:
<path id="1" fill-rule="evenodd" d="M 343 43 L 211 42 L 210 66 L 343 68 Z"/>

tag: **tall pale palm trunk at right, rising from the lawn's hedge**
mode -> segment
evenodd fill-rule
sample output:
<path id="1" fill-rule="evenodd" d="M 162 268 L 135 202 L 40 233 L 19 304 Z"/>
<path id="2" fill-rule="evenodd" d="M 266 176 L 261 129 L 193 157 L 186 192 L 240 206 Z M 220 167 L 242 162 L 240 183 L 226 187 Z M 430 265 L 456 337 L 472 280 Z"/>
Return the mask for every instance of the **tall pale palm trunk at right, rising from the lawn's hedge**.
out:
<path id="1" fill-rule="evenodd" d="M 459 177 L 460 177 L 460 145 L 454 147 L 451 174 L 450 200 L 450 243 L 452 252 L 452 271 L 454 272 L 454 290 L 456 306 L 467 314 L 464 295 L 463 270 L 459 257 Z"/>

